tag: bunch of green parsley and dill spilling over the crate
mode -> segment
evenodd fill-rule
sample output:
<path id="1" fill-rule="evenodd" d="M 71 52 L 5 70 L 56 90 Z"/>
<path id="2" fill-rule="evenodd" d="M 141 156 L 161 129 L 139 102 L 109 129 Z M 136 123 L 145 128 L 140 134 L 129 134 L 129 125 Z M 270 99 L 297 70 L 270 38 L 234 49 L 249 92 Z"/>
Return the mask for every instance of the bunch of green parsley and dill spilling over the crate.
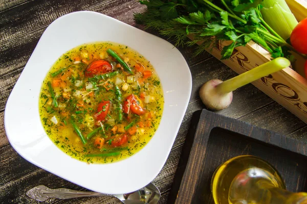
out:
<path id="1" fill-rule="evenodd" d="M 233 49 L 253 40 L 271 53 L 272 58 L 287 57 L 294 48 L 264 21 L 262 0 L 149 0 L 144 13 L 135 13 L 138 24 L 173 37 L 176 45 L 200 44 L 194 55 L 210 47 L 215 40 L 232 40 L 222 50 L 222 59 Z M 187 35 L 193 35 L 192 41 Z"/>

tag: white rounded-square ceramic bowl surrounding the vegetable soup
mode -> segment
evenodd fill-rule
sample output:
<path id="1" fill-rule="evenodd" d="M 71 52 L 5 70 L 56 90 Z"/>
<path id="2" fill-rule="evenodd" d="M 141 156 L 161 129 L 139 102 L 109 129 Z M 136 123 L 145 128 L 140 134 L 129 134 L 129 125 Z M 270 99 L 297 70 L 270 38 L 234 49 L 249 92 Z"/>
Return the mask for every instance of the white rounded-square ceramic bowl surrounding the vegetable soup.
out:
<path id="1" fill-rule="evenodd" d="M 155 67 L 164 92 L 164 111 L 156 134 L 137 154 L 113 164 L 89 165 L 66 155 L 45 133 L 38 112 L 42 81 L 54 62 L 73 47 L 95 41 L 113 41 L 137 50 Z M 70 13 L 42 34 L 7 101 L 5 130 L 13 148 L 36 166 L 93 191 L 128 193 L 146 186 L 162 169 L 191 87 L 185 59 L 167 41 L 100 13 Z"/>

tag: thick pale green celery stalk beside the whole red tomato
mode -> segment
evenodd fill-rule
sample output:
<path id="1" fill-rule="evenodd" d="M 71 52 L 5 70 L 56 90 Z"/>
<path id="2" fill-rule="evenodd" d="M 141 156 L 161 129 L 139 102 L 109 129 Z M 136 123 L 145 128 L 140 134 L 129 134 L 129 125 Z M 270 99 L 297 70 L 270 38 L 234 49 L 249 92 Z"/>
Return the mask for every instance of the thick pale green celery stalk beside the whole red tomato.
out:
<path id="1" fill-rule="evenodd" d="M 287 40 L 297 20 L 284 0 L 264 0 L 261 14 L 266 23 L 284 40 Z"/>

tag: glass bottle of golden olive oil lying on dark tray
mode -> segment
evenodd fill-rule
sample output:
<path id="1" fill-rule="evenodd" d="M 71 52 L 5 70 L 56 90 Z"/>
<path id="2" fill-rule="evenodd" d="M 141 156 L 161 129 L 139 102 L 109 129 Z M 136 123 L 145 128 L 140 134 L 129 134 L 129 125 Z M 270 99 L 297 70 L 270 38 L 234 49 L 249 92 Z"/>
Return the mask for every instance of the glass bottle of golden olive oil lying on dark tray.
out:
<path id="1" fill-rule="evenodd" d="M 211 180 L 216 204 L 307 204 L 307 193 L 292 193 L 277 170 L 260 158 L 239 156 L 218 167 Z"/>

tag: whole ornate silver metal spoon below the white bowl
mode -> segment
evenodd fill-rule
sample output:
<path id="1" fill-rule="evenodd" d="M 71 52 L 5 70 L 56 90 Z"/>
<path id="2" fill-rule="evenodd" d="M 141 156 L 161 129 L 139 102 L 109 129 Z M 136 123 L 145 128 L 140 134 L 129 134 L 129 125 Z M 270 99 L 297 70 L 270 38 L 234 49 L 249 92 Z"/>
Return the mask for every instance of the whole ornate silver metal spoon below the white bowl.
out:
<path id="1" fill-rule="evenodd" d="M 149 183 L 147 186 L 135 192 L 120 194 L 120 195 L 76 191 L 67 188 L 50 189 L 43 185 L 31 188 L 26 194 L 28 197 L 37 201 L 45 201 L 48 200 L 49 198 L 69 199 L 75 197 L 88 197 L 88 196 L 113 196 L 117 197 L 125 204 L 128 203 L 156 204 L 161 196 L 159 189 L 152 183 Z"/>

